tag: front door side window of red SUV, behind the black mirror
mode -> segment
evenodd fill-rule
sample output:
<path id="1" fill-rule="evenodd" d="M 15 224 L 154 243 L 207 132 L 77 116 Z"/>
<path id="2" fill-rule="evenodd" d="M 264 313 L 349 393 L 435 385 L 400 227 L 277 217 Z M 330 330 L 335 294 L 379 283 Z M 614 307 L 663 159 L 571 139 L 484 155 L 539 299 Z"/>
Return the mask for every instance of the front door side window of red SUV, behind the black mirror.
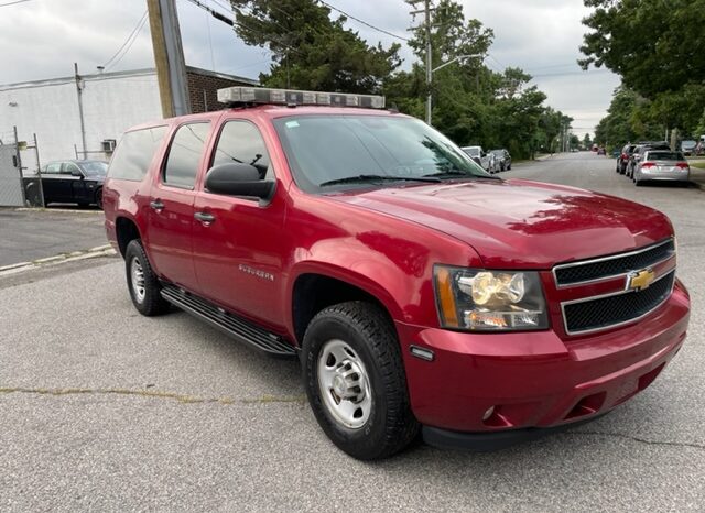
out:
<path id="1" fill-rule="evenodd" d="M 264 140 L 257 127 L 247 121 L 228 121 L 223 127 L 210 165 L 228 162 L 251 164 L 260 172 L 260 179 L 274 179 Z"/>

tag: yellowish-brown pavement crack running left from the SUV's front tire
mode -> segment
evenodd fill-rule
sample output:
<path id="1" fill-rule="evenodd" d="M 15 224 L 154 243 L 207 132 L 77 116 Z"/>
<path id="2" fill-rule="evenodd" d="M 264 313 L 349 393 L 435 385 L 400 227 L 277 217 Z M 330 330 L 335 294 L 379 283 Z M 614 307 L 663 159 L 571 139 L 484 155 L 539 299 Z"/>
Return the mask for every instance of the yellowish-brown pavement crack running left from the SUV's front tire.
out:
<path id="1" fill-rule="evenodd" d="M 148 397 L 155 400 L 170 400 L 176 401 L 182 404 L 203 404 L 203 403 L 216 403 L 216 404 L 268 404 L 268 403 L 304 403 L 305 395 L 260 395 L 256 397 L 202 397 L 197 395 L 178 394 L 176 392 L 166 392 L 160 390 L 134 390 L 134 389 L 82 389 L 82 388 L 68 388 L 68 389 L 40 389 L 40 388 L 24 388 L 24 386 L 0 386 L 0 395 L 2 394 L 32 394 L 32 395 L 50 395 L 50 396 L 65 396 L 65 395 L 126 395 Z"/>

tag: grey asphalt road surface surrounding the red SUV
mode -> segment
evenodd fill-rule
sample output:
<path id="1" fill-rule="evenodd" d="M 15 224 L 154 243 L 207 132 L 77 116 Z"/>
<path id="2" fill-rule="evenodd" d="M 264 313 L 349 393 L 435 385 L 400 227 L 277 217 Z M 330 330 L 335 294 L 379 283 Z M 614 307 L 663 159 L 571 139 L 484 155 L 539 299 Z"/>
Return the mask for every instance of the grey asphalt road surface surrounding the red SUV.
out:
<path id="1" fill-rule="evenodd" d="M 703 511 L 705 196 L 634 187 L 592 153 L 524 177 L 666 212 L 690 286 L 688 340 L 643 393 L 594 423 L 490 454 L 337 450 L 294 361 L 183 313 L 144 318 L 121 260 L 0 277 L 0 511 Z"/>

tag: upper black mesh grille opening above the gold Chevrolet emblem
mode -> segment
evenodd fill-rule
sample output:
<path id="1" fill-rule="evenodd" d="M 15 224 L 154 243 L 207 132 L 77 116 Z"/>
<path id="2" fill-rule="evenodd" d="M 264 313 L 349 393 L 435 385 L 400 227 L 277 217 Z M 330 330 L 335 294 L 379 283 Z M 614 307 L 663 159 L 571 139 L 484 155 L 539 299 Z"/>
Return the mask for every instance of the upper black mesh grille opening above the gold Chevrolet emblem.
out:
<path id="1" fill-rule="evenodd" d="M 673 239 L 669 239 L 657 245 L 629 253 L 556 265 L 553 272 L 556 285 L 576 285 L 578 283 L 603 280 L 610 276 L 619 276 L 620 274 L 627 274 L 631 271 L 654 265 L 668 260 L 674 252 L 675 244 Z"/>

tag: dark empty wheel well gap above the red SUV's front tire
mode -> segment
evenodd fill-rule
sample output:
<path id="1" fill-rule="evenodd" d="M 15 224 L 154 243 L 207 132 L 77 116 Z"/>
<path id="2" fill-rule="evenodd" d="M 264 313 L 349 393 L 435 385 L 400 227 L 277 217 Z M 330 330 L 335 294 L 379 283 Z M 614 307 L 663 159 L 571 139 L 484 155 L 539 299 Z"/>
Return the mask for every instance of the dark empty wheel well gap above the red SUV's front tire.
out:
<path id="1" fill-rule="evenodd" d="M 322 274 L 302 274 L 294 283 L 292 314 L 294 335 L 301 346 L 311 319 L 322 309 L 348 301 L 365 301 L 380 307 L 390 318 L 384 305 L 373 295 L 349 283 Z"/>

